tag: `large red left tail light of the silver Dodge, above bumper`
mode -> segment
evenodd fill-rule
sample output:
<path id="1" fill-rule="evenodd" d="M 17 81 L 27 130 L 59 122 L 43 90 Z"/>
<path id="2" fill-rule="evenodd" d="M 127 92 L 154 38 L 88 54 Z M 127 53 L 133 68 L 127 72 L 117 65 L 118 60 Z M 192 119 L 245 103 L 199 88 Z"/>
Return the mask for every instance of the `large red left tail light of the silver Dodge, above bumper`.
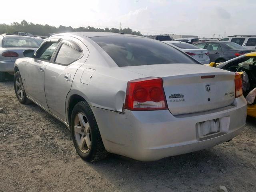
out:
<path id="1" fill-rule="evenodd" d="M 142 78 L 127 83 L 125 108 L 128 110 L 167 109 L 162 78 Z"/>

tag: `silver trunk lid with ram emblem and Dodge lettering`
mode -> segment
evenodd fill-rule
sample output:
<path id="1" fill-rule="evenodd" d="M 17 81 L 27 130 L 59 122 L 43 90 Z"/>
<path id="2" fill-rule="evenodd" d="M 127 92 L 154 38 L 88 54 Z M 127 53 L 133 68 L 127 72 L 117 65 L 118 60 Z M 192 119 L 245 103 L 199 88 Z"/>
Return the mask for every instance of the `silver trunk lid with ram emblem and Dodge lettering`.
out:
<path id="1" fill-rule="evenodd" d="M 200 64 L 159 64 L 122 68 L 162 78 L 168 109 L 174 115 L 222 108 L 231 105 L 235 99 L 235 74 L 226 70 Z"/>

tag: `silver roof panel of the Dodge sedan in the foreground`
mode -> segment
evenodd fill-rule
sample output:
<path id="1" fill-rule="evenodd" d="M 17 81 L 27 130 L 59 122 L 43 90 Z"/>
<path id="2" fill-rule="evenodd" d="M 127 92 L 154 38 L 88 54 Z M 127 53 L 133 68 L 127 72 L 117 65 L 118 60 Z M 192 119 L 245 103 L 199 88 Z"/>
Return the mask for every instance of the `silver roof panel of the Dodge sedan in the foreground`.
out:
<path id="1" fill-rule="evenodd" d="M 100 37 L 100 36 L 134 36 L 134 37 L 143 37 L 138 35 L 130 35 L 130 34 L 119 34 L 119 33 L 111 33 L 111 32 L 70 32 L 70 33 L 61 33 L 61 34 L 54 34 L 53 36 L 59 35 L 77 35 L 77 36 L 86 36 L 86 37 Z M 143 37 L 145 38 L 145 37 Z"/>

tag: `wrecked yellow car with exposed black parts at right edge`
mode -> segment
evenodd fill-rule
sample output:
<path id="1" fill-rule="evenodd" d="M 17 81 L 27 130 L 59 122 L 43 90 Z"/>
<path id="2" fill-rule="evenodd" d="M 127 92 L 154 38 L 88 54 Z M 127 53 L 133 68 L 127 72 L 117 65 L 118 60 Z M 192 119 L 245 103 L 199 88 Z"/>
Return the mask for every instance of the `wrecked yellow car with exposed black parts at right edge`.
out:
<path id="1" fill-rule="evenodd" d="M 223 63 L 216 64 L 212 62 L 208 66 L 233 72 L 243 72 L 243 85 L 245 85 L 243 88 L 244 97 L 250 93 L 249 96 L 253 95 L 254 99 L 251 104 L 248 104 L 247 115 L 256 118 L 256 52 L 247 53 Z"/>

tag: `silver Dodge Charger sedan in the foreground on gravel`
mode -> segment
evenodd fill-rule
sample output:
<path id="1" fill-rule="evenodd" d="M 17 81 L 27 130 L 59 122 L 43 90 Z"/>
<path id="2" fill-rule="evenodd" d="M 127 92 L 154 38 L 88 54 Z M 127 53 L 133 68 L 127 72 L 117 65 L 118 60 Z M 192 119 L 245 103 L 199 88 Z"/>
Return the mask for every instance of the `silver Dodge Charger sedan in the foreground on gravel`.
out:
<path id="1" fill-rule="evenodd" d="M 127 34 L 56 34 L 16 60 L 14 88 L 71 130 L 79 156 L 152 161 L 231 140 L 246 122 L 240 74 Z"/>

